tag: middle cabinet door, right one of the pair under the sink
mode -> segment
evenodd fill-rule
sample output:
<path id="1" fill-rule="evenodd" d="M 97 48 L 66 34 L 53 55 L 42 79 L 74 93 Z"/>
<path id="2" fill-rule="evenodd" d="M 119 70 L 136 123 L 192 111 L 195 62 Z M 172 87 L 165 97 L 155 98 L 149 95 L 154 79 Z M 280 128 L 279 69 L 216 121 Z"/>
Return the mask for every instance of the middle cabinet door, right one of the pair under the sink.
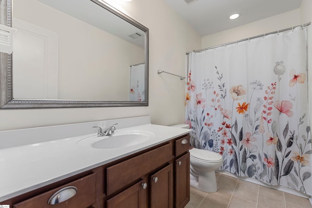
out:
<path id="1" fill-rule="evenodd" d="M 173 164 L 150 176 L 150 207 L 173 208 Z"/>

